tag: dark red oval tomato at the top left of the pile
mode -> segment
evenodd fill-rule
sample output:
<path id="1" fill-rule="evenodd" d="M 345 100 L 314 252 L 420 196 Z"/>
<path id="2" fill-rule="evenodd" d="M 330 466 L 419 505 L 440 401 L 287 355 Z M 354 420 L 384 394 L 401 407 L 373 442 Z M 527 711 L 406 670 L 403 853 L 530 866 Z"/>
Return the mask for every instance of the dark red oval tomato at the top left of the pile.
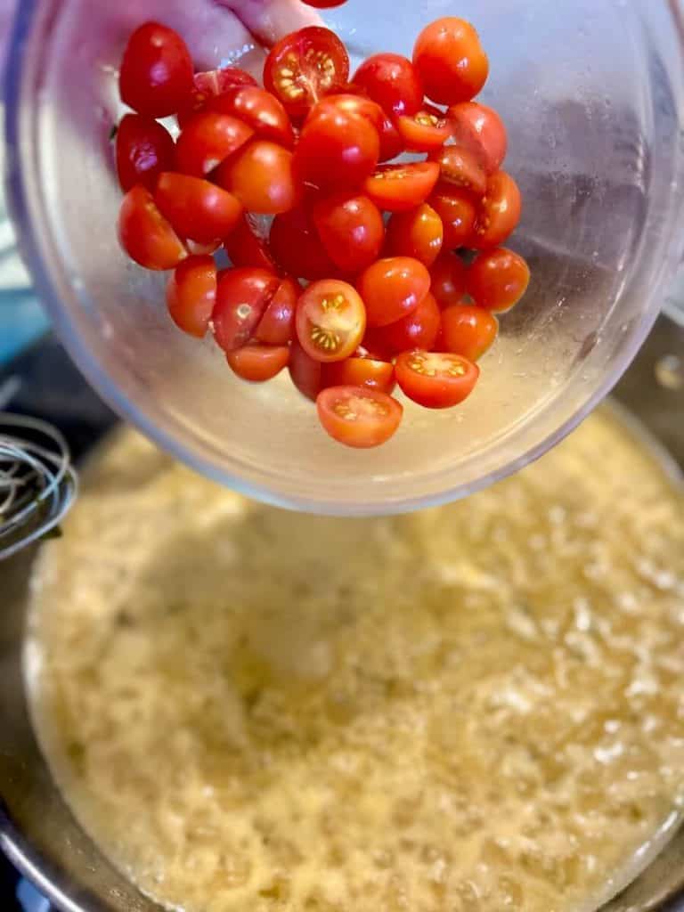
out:
<path id="1" fill-rule="evenodd" d="M 121 101 L 139 114 L 168 117 L 191 92 L 192 57 L 181 36 L 158 22 L 136 28 L 121 60 Z"/>

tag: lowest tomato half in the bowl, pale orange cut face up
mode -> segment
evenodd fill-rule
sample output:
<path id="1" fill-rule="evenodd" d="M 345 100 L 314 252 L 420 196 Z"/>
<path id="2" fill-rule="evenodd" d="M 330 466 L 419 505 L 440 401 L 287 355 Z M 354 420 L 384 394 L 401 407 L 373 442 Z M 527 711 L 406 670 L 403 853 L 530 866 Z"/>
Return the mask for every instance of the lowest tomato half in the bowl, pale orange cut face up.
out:
<path id="1" fill-rule="evenodd" d="M 399 428 L 404 409 L 397 399 L 368 387 L 328 387 L 316 398 L 318 419 L 347 447 L 377 447 Z"/>

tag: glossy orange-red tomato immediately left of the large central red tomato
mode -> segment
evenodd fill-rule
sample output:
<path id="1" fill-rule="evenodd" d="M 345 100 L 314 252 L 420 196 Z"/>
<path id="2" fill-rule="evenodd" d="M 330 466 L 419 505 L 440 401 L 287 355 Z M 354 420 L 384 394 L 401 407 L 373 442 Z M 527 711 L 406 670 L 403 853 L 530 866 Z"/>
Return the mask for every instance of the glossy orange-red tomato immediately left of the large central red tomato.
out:
<path id="1" fill-rule="evenodd" d="M 230 190 L 249 212 L 289 212 L 302 195 L 292 152 L 268 140 L 254 140 L 216 171 L 216 182 Z"/>

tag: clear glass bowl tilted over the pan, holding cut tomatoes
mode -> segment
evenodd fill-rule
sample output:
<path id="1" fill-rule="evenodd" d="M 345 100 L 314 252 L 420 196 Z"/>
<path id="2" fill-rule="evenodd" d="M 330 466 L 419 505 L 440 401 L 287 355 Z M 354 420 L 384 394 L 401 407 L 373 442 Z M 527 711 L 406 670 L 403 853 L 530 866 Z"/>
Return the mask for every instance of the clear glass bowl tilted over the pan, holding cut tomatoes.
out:
<path id="1" fill-rule="evenodd" d="M 163 277 L 119 251 L 109 130 L 121 49 L 134 26 L 157 18 L 202 35 L 201 67 L 246 52 L 258 68 L 248 43 L 222 43 L 219 12 L 202 0 L 20 4 L 6 85 L 8 191 L 27 263 L 78 366 L 182 460 L 299 510 L 440 503 L 539 456 L 627 368 L 679 260 L 679 6 L 349 0 L 328 11 L 353 64 L 379 49 L 409 54 L 437 16 L 475 23 L 492 61 L 482 100 L 509 126 L 506 167 L 524 194 L 512 245 L 534 275 L 523 304 L 503 317 L 472 398 L 443 413 L 408 404 L 395 439 L 362 452 L 328 440 L 286 377 L 264 386 L 233 378 L 211 340 L 198 344 L 171 325 Z"/>

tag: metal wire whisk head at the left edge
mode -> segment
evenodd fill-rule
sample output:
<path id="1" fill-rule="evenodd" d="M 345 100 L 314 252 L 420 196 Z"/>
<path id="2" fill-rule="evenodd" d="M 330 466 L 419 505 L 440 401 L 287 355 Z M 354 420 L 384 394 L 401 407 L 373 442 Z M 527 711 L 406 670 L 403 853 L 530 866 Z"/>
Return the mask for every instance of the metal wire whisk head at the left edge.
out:
<path id="1" fill-rule="evenodd" d="M 58 534 L 77 492 L 62 434 L 47 421 L 0 411 L 0 560 Z"/>

